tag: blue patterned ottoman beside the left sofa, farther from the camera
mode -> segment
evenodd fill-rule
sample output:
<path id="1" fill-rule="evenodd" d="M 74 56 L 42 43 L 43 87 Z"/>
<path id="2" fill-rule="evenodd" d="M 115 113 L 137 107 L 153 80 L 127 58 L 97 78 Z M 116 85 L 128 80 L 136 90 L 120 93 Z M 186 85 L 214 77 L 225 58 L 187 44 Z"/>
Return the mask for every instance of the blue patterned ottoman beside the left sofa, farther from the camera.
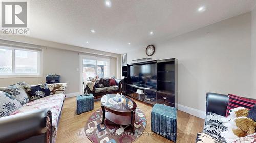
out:
<path id="1" fill-rule="evenodd" d="M 87 96 L 78 95 L 76 97 L 76 111 L 77 114 L 93 110 L 94 96 L 93 94 Z"/>

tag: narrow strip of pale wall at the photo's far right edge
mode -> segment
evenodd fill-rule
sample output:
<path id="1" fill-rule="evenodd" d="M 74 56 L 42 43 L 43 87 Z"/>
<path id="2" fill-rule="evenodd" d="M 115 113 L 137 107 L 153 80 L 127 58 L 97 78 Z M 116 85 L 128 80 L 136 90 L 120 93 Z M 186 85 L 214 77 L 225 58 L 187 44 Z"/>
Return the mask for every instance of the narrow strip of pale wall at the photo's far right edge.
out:
<path id="1" fill-rule="evenodd" d="M 251 11 L 251 97 L 256 98 L 256 7 Z"/>

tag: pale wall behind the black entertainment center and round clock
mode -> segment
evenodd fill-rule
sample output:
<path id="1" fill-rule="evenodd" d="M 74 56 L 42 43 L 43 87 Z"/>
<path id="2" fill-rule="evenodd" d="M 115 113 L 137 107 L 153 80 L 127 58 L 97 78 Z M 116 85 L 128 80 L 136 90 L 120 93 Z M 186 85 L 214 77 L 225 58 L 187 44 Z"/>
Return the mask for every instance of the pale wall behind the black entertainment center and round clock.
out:
<path id="1" fill-rule="evenodd" d="M 206 92 L 250 96 L 250 12 L 147 44 L 156 47 L 153 59 L 179 60 L 179 104 L 205 111 Z M 145 48 L 127 53 L 128 63 L 144 57 Z"/>

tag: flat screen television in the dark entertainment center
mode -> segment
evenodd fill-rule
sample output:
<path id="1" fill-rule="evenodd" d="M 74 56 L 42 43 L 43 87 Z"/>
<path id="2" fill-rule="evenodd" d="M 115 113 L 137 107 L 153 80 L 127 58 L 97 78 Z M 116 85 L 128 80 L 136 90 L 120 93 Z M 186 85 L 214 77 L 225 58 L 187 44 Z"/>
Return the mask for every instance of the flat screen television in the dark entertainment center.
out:
<path id="1" fill-rule="evenodd" d="M 157 88 L 157 64 L 131 66 L 130 82 L 139 87 Z"/>

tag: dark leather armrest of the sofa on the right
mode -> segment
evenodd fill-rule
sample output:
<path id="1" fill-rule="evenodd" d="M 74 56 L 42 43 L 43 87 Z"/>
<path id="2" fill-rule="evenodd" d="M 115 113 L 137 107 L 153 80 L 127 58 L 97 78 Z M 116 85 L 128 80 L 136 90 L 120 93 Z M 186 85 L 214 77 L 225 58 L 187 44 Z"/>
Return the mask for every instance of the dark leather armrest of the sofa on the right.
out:
<path id="1" fill-rule="evenodd" d="M 225 116 L 228 105 L 228 95 L 218 93 L 206 94 L 206 113 L 212 112 Z"/>

